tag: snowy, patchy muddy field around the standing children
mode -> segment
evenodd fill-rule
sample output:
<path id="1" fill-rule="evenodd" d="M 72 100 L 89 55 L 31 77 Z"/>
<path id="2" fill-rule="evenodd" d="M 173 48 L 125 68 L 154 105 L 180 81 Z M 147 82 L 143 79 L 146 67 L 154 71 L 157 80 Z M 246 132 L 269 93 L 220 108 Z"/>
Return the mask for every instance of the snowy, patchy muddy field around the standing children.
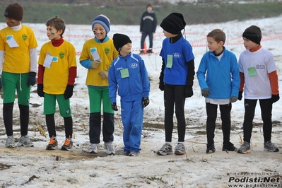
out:
<path id="1" fill-rule="evenodd" d="M 48 41 L 46 26 L 25 23 L 35 31 L 39 53 L 40 47 Z M 206 35 L 213 29 L 225 31 L 225 47 L 239 58 L 245 50 L 242 45 L 242 32 L 250 25 L 262 29 L 262 47 L 274 54 L 278 67 L 279 86 L 282 88 L 282 16 L 258 20 L 230 21 L 228 23 L 211 23 L 186 26 L 186 38 L 193 46 L 195 67 L 198 69 L 201 57 L 206 52 Z M 6 23 L 0 23 L 0 28 Z M 111 25 L 109 37 L 114 33 L 124 33 L 132 40 L 133 52 L 139 53 L 141 34 L 139 25 Z M 150 105 L 144 110 L 143 136 L 141 154 L 138 157 L 122 155 L 122 122 L 120 110 L 115 114 L 114 146 L 116 155 L 107 155 L 102 147 L 100 153 L 88 154 L 83 150 L 89 146 L 88 137 L 88 90 L 85 85 L 87 70 L 79 61 L 78 76 L 71 98 L 74 119 L 74 148 L 71 151 L 46 151 L 49 141 L 45 115 L 42 114 L 43 98 L 37 96 L 37 86 L 33 86 L 30 95 L 30 131 L 34 148 L 5 148 L 6 133 L 2 115 L 0 116 L 0 186 L 1 187 L 281 187 L 282 178 L 282 99 L 274 103 L 274 129 L 272 141 L 280 149 L 277 153 L 268 153 L 263 149 L 262 120 L 259 105 L 254 117 L 252 134 L 252 153 L 247 155 L 221 151 L 222 131 L 218 112 L 216 129 L 216 153 L 206 154 L 206 108 L 198 81 L 194 80 L 194 96 L 185 103 L 187 131 L 185 145 L 186 155 L 159 156 L 154 153 L 163 143 L 164 106 L 163 92 L 158 89 L 158 76 L 161 58 L 158 55 L 165 38 L 162 29 L 157 28 L 154 35 L 153 52 L 143 55 L 148 75 L 151 80 Z M 66 25 L 64 39 L 69 40 L 77 52 L 77 60 L 83 43 L 92 38 L 89 25 Z M 148 46 L 148 38 L 146 39 Z M 282 89 L 281 89 L 282 90 Z M 119 99 L 117 100 L 119 101 Z M 2 100 L 0 105 L 2 106 Z M 17 101 L 15 101 L 15 104 Z M 117 102 L 119 106 L 119 102 Z M 120 109 L 120 107 L 119 107 Z M 2 107 L 0 114 L 3 114 Z M 219 111 L 219 110 L 218 110 Z M 14 137 L 20 137 L 18 105 L 13 111 Z M 242 122 L 244 117 L 243 100 L 233 103 L 231 112 L 231 141 L 236 147 L 242 142 Z M 64 142 L 64 120 L 55 114 L 59 148 Z M 176 121 L 175 121 L 176 122 Z M 46 132 L 40 134 L 38 127 Z M 176 127 L 175 127 L 176 128 Z M 177 143 L 177 129 L 172 134 L 173 146 Z M 266 178 L 266 179 L 264 179 Z"/>

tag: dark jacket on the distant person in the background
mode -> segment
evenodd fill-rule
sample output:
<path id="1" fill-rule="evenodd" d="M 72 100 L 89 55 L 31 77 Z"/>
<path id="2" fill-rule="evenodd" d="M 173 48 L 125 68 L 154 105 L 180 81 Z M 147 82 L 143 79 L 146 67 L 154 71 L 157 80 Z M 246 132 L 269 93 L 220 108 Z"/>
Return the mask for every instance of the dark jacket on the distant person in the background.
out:
<path id="1" fill-rule="evenodd" d="M 155 33 L 155 28 L 157 28 L 157 17 L 154 11 L 148 13 L 144 12 L 141 16 L 140 31 L 147 33 Z"/>

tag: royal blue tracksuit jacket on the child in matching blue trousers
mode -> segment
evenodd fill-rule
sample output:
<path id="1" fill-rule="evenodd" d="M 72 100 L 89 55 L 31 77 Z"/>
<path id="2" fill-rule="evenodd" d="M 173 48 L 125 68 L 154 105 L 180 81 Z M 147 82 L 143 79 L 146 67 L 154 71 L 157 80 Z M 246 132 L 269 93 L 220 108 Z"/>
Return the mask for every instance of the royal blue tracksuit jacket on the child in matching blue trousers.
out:
<path id="1" fill-rule="evenodd" d="M 128 73 L 122 75 L 122 72 Z M 124 78 L 122 78 L 124 77 Z M 117 57 L 109 69 L 109 95 L 116 102 L 117 90 L 122 102 L 148 98 L 150 81 L 143 59 L 138 54 Z"/>

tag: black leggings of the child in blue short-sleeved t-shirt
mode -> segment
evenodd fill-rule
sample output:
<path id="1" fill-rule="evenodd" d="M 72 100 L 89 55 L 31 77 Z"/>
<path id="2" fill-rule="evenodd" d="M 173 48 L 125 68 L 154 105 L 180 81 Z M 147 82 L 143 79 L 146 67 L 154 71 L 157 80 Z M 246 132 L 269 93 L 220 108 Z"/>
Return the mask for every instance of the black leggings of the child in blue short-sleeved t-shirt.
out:
<path id="1" fill-rule="evenodd" d="M 177 119 L 178 141 L 184 141 L 186 131 L 186 122 L 184 116 L 184 94 L 185 86 L 174 86 L 165 84 L 165 141 L 172 141 L 174 107 Z"/>

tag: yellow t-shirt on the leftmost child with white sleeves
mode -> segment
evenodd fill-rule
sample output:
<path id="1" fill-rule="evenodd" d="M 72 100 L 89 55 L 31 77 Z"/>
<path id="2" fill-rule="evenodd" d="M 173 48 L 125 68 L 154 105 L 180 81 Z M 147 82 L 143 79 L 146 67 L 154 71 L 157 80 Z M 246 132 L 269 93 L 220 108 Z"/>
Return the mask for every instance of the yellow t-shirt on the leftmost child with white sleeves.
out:
<path id="1" fill-rule="evenodd" d="M 30 72 L 29 49 L 37 47 L 33 30 L 25 25 L 22 25 L 20 30 L 13 30 L 10 27 L 6 27 L 0 30 L 0 40 L 0 50 L 5 52 L 2 70 L 15 74 Z M 18 47 L 13 47 L 16 46 L 15 42 Z"/>

